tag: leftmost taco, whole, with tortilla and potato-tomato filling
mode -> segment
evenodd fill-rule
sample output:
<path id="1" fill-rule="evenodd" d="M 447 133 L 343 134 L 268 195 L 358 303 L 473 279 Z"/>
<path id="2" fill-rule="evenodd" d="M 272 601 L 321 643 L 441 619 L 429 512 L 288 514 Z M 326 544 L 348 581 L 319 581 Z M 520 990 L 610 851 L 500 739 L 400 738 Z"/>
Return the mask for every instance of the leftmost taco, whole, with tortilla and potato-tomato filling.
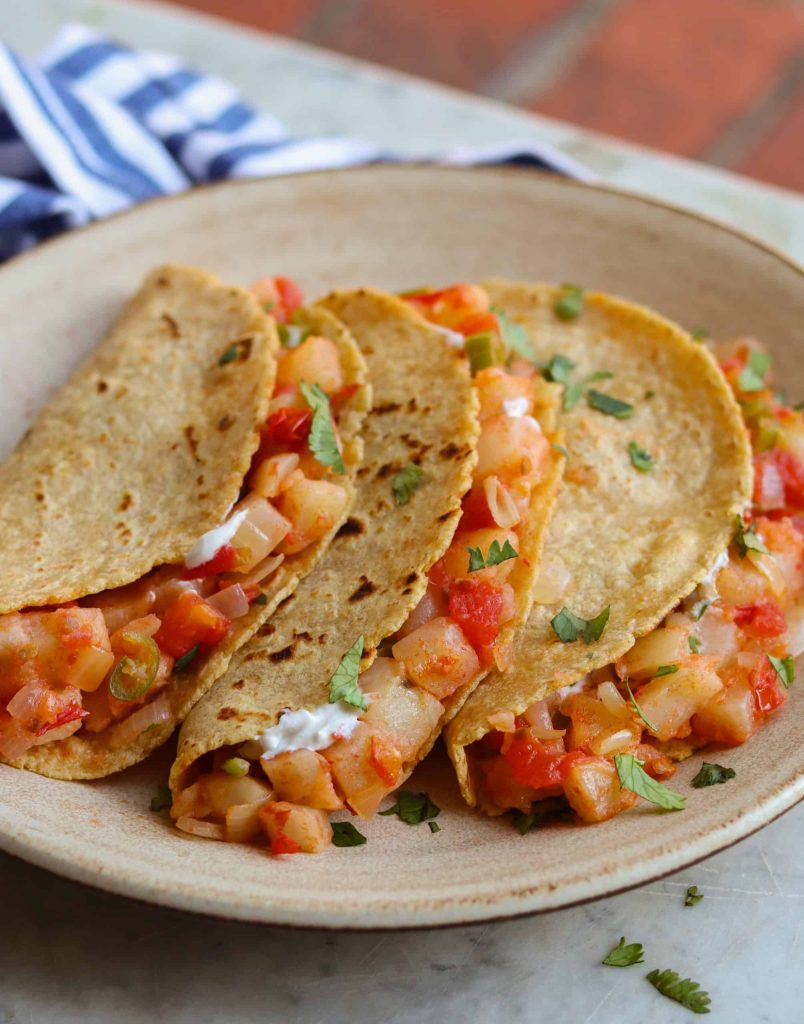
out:
<path id="1" fill-rule="evenodd" d="M 144 758 L 345 518 L 365 364 L 278 284 L 281 353 L 254 294 L 155 270 L 0 467 L 3 761 Z"/>

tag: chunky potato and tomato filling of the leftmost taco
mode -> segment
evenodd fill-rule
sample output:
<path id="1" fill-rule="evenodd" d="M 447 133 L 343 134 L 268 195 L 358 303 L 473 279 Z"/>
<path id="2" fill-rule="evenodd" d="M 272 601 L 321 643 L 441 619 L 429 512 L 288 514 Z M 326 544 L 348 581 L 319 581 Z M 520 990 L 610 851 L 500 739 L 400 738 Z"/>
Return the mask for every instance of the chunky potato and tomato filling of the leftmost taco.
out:
<path id="1" fill-rule="evenodd" d="M 291 282 L 264 279 L 253 290 L 282 325 L 285 347 L 239 501 L 199 538 L 183 565 L 157 567 L 77 601 L 0 616 L 4 759 L 79 729 L 112 727 L 109 744 L 120 748 L 170 721 L 164 690 L 171 679 L 215 649 L 255 603 L 266 604 L 266 581 L 344 513 L 348 490 L 339 479 L 337 424 L 358 385 L 344 387 L 338 346 L 311 332 Z M 243 344 L 220 352 L 221 375 L 244 358 Z M 225 421 L 218 423 L 221 431 Z"/>

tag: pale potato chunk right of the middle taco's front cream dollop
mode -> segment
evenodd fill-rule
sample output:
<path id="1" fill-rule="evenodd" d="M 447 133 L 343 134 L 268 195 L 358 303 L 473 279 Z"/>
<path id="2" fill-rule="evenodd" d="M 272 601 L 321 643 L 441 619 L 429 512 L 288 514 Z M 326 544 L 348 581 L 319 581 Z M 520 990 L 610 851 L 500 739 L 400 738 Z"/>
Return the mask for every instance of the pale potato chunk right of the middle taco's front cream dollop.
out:
<path id="1" fill-rule="evenodd" d="M 438 727 L 443 714 L 439 701 L 409 686 L 401 666 L 391 657 L 378 657 L 361 676 L 361 688 L 373 694 L 364 722 L 391 737 L 403 763 L 414 760 Z"/>

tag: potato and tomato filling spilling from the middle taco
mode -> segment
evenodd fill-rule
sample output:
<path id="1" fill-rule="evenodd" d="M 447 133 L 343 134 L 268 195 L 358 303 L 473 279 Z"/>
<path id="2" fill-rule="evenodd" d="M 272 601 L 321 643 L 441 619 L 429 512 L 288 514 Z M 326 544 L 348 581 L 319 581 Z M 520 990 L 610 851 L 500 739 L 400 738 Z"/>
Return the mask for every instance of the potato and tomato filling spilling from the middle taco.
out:
<path id="1" fill-rule="evenodd" d="M 537 417 L 549 417 L 555 386 L 524 359 L 506 365 L 501 319 L 483 289 L 406 298 L 449 332 L 450 344 L 465 348 L 479 397 L 477 463 L 457 531 L 430 568 L 423 597 L 368 671 L 358 671 L 361 637 L 332 677 L 329 703 L 287 711 L 255 739 L 208 756 L 206 770 L 173 802 L 185 831 L 267 839 L 272 853 L 324 849 L 332 841 L 329 813 L 378 810 L 429 750 L 451 698 L 490 666 L 505 665 L 503 627 L 526 613 L 530 571 L 512 573 L 520 551 L 538 552 L 532 506 L 554 457 Z M 423 478 L 414 462 L 394 476 L 397 506 Z"/>

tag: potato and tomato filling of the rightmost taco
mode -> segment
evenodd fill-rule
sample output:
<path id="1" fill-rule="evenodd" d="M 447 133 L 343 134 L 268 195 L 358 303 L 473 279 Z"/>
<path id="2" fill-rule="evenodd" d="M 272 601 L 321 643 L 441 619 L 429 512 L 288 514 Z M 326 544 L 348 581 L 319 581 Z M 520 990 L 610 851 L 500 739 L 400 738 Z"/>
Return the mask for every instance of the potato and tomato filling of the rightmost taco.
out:
<path id="1" fill-rule="evenodd" d="M 759 345 L 714 351 L 750 433 L 753 501 L 708 579 L 658 629 L 524 714 L 490 719 L 466 752 L 490 813 L 568 805 L 594 822 L 638 796 L 679 809 L 663 784 L 674 762 L 746 742 L 787 699 L 804 651 L 804 419 L 774 393 Z"/>

